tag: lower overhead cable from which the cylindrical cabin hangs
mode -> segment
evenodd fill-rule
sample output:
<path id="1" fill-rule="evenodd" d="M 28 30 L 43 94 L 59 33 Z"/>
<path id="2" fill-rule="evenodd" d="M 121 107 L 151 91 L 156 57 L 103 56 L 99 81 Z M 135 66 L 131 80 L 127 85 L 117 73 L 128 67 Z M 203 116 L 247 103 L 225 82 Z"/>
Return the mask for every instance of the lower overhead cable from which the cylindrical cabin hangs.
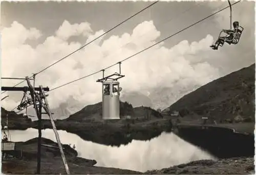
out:
<path id="1" fill-rule="evenodd" d="M 239 2 L 241 2 L 241 0 L 238 1 L 238 2 L 236 2 L 236 3 L 233 3 L 231 6 L 233 6 L 233 5 L 235 5 L 235 4 L 239 3 Z M 209 17 L 211 17 L 211 16 L 214 16 L 215 14 L 217 14 L 217 13 L 219 13 L 219 12 L 221 12 L 221 11 L 227 9 L 227 8 L 229 8 L 229 6 L 223 8 L 223 9 L 221 9 L 221 10 L 218 10 L 218 11 L 215 12 L 215 13 L 212 13 L 212 14 L 210 14 L 210 15 L 207 16 L 207 17 L 204 17 L 203 19 L 197 21 L 196 23 L 194 23 L 194 24 L 192 24 L 192 25 L 190 25 L 190 26 L 188 26 L 188 27 L 186 27 L 186 28 L 184 28 L 184 29 L 182 29 L 182 30 L 180 30 L 180 31 L 178 31 L 178 32 L 176 32 L 176 33 L 174 33 L 174 34 L 172 34 L 172 35 L 170 35 L 170 36 L 168 36 L 168 37 L 162 39 L 162 40 L 160 40 L 159 42 L 156 42 L 154 45 L 151 45 L 150 47 L 147 47 L 146 49 L 143 49 L 143 50 L 141 50 L 140 52 L 137 52 L 136 54 L 131 55 L 131 56 L 129 56 L 129 57 L 127 57 L 127 58 L 125 58 L 125 59 L 123 59 L 123 60 L 117 62 L 117 63 L 114 63 L 114 64 L 110 65 L 109 67 L 106 67 L 106 68 L 104 68 L 104 69 L 102 69 L 102 70 L 109 69 L 109 68 L 113 67 L 114 65 L 116 65 L 116 64 L 118 64 L 118 63 L 120 63 L 120 62 L 123 62 L 123 61 L 125 61 L 125 60 L 127 60 L 127 59 L 130 59 L 130 58 L 132 58 L 132 57 L 134 57 L 134 56 L 140 54 L 141 52 L 144 52 L 144 51 L 146 51 L 147 49 L 150 49 L 150 48 L 152 48 L 152 47 L 158 45 L 159 43 L 165 41 L 166 39 L 169 39 L 170 37 L 173 37 L 173 36 L 175 36 L 175 35 L 177 35 L 177 34 L 183 32 L 184 30 L 186 30 L 186 29 L 188 29 L 188 28 L 190 28 L 190 27 L 193 27 L 193 26 L 197 25 L 198 23 L 201 23 L 203 20 L 205 20 L 205 19 L 207 19 L 207 18 L 209 18 Z M 97 72 L 94 72 L 94 73 L 89 74 L 89 75 L 86 75 L 86 76 L 84 76 L 84 77 L 75 79 L 75 80 L 73 80 L 73 81 L 70 81 L 70 82 L 68 82 L 68 83 L 62 84 L 62 85 L 60 85 L 60 86 L 57 86 L 56 88 L 54 88 L 54 89 L 52 89 L 52 90 L 50 90 L 50 91 L 56 90 L 56 89 L 58 89 L 58 88 L 61 88 L 62 86 L 68 85 L 68 84 L 73 83 L 73 82 L 75 82 L 75 81 L 78 81 L 78 80 L 81 80 L 81 79 L 83 79 L 83 78 L 87 78 L 87 77 L 89 77 L 89 76 L 92 76 L 92 75 L 94 75 L 94 74 L 97 74 L 97 73 L 101 72 L 102 70 L 97 71 Z M 50 91 L 48 91 L 48 92 L 50 92 Z"/>

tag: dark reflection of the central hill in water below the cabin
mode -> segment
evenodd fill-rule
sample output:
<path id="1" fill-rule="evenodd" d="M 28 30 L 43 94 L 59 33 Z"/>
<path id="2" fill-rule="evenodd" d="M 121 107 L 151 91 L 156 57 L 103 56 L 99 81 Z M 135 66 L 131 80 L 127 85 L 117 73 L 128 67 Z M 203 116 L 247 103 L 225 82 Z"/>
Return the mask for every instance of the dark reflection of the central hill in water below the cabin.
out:
<path id="1" fill-rule="evenodd" d="M 137 119 L 135 119 L 135 121 L 137 121 Z M 159 136 L 163 131 L 170 132 L 172 128 L 172 123 L 165 119 L 156 119 L 135 124 L 131 124 L 132 122 L 133 119 L 130 122 L 126 120 L 111 120 L 108 121 L 108 123 L 82 123 L 60 120 L 56 122 L 56 127 L 76 134 L 84 140 L 111 146 L 128 144 L 132 142 L 133 139 L 150 140 Z M 52 128 L 49 120 L 44 120 L 42 127 Z"/>

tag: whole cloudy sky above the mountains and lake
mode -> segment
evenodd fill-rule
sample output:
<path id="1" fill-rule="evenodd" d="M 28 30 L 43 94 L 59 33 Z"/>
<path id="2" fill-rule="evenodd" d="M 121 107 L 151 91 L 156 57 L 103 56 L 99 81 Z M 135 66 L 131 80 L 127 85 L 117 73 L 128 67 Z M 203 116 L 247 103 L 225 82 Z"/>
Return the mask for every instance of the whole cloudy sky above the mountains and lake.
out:
<path id="1" fill-rule="evenodd" d="M 2 2 L 2 77 L 31 76 L 108 31 L 153 2 Z M 227 7 L 226 1 L 158 2 L 84 49 L 36 76 L 36 85 L 53 89 L 127 58 L 196 21 Z M 244 27 L 238 45 L 218 51 L 209 46 L 229 28 L 229 8 L 159 45 L 122 62 L 124 93 L 203 85 L 255 62 L 254 2 L 232 7 Z M 118 72 L 118 66 L 105 75 Z M 52 108 L 75 99 L 82 106 L 101 100 L 102 73 L 49 92 Z M 2 86 L 18 81 L 3 80 Z M 26 83 L 20 84 L 25 86 Z M 23 94 L 8 92 L 2 106 L 12 110 Z"/>

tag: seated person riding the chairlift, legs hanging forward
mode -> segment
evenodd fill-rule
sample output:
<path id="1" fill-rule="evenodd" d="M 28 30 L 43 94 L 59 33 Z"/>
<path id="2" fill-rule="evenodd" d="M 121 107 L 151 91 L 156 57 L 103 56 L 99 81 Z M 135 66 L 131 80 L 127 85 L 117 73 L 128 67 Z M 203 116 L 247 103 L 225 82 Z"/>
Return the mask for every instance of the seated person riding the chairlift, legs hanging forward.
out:
<path id="1" fill-rule="evenodd" d="M 217 41 L 215 42 L 215 45 L 211 45 L 210 47 L 214 50 L 218 50 L 218 47 L 221 45 L 224 45 L 224 42 L 227 42 L 229 45 L 231 43 L 234 42 L 234 38 L 237 33 L 237 30 L 239 28 L 239 22 L 238 21 L 234 21 L 233 22 L 233 29 L 228 29 L 228 30 L 223 30 L 223 32 L 225 32 L 227 35 L 226 36 L 221 36 L 217 39 Z M 237 39 L 235 42 L 238 42 Z"/>

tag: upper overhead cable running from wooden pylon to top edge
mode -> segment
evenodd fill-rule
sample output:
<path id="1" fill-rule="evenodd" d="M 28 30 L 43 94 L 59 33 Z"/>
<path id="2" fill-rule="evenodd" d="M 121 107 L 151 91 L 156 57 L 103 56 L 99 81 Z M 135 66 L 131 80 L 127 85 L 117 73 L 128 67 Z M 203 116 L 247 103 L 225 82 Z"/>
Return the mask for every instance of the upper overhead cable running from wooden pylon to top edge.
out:
<path id="1" fill-rule="evenodd" d="M 82 47 L 80 47 L 80 48 L 78 48 L 77 50 L 73 51 L 72 53 L 68 54 L 67 56 L 65 56 L 65 57 L 59 59 L 58 61 L 56 61 L 56 62 L 54 62 L 54 63 L 48 65 L 48 67 L 46 67 L 46 68 L 42 69 L 41 71 L 37 72 L 35 75 L 37 75 L 37 74 L 39 74 L 39 73 L 41 73 L 41 72 L 47 70 L 48 68 L 52 67 L 54 64 L 60 62 L 61 60 L 65 59 L 65 58 L 69 57 L 70 55 L 76 53 L 77 51 L 83 49 L 84 47 L 86 47 L 87 45 L 89 45 L 90 43 L 92 43 L 93 41 L 95 41 L 96 39 L 98 39 L 98 38 L 100 38 L 101 36 L 103 36 L 103 35 L 109 33 L 110 31 L 114 30 L 114 29 L 117 28 L 118 26 L 120 26 L 120 25 L 122 25 L 123 23 L 125 23 L 127 20 L 133 18 L 134 16 L 138 15 L 139 13 L 141 13 L 141 12 L 143 12 L 144 10 L 150 8 L 151 6 L 155 5 L 155 4 L 158 3 L 158 2 L 159 2 L 159 1 L 156 1 L 156 2 L 152 3 L 151 5 L 149 5 L 149 6 L 145 7 L 145 8 L 143 8 L 143 9 L 140 10 L 139 12 L 137 12 L 137 13 L 135 13 L 134 15 L 130 16 L 129 18 L 123 20 L 121 23 L 119 23 L 119 24 L 116 25 L 115 27 L 109 29 L 108 31 L 106 31 L 105 33 L 101 34 L 101 35 L 98 36 L 97 38 L 95 38 L 95 39 L 93 39 L 92 41 L 88 42 L 86 45 L 83 45 Z M 32 78 L 32 77 L 33 77 L 33 76 L 31 76 L 31 77 L 29 77 L 29 78 Z M 23 81 L 21 81 L 21 82 L 15 84 L 13 87 L 15 87 L 15 86 L 17 86 L 17 85 L 23 83 L 24 81 L 26 81 L 26 80 L 23 80 Z M 6 92 L 6 91 L 2 92 L 1 94 L 4 94 L 5 92 Z"/>

